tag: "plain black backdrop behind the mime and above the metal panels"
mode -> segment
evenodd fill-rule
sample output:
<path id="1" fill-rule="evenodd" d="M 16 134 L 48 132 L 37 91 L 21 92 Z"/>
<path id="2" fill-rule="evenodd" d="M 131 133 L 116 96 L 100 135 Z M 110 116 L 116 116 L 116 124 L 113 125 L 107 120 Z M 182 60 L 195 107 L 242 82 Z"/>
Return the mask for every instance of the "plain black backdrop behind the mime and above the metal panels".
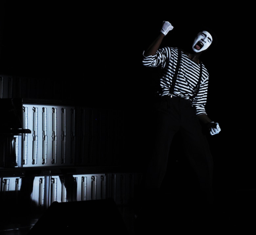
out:
<path id="1" fill-rule="evenodd" d="M 51 78 L 70 87 L 74 102 L 123 109 L 127 153 L 140 159 L 147 151 L 147 101 L 156 75 L 142 67 L 142 51 L 164 20 L 174 30 L 163 45 L 186 46 L 194 30 L 207 25 L 218 37 L 201 57 L 210 73 L 206 109 L 222 128 L 209 138 L 216 175 L 223 187 L 255 188 L 250 9 L 194 1 L 2 0 L 0 74 Z"/>

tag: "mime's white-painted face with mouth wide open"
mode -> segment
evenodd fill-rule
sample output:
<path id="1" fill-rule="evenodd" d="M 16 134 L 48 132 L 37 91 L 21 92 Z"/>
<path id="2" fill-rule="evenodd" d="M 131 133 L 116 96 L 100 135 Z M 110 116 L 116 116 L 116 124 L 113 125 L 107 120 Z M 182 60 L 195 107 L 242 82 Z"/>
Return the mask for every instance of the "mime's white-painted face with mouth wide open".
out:
<path id="1" fill-rule="evenodd" d="M 212 35 L 207 31 L 202 31 L 196 36 L 192 49 L 194 52 L 201 52 L 206 50 L 212 43 Z"/>

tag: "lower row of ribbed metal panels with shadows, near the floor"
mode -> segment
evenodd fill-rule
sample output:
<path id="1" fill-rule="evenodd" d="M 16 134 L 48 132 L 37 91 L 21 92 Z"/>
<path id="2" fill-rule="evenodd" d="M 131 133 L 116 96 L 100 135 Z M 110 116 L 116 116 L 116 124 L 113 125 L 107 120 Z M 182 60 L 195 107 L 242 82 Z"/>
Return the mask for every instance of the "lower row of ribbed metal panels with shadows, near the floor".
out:
<path id="1" fill-rule="evenodd" d="M 63 171 L 19 170 L 5 172 L 1 176 L 3 206 L 21 206 L 27 210 L 47 209 L 53 202 L 87 201 L 112 198 L 117 205 L 129 203 L 138 181 L 134 173 L 88 173 L 84 169 Z M 82 173 L 84 172 L 84 173 Z M 14 173 L 14 174 L 13 174 Z M 3 174 L 3 171 L 2 171 Z M 15 176 L 13 176 L 15 175 Z M 13 197 L 15 196 L 15 200 Z M 18 196 L 25 199 L 20 200 Z"/>

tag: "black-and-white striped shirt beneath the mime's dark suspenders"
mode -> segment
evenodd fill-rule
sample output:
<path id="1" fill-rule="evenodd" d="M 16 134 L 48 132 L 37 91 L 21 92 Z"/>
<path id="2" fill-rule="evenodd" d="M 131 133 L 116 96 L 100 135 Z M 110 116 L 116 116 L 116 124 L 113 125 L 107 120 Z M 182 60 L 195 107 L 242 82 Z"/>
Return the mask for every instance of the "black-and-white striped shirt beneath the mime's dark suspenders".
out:
<path id="1" fill-rule="evenodd" d="M 168 95 L 170 84 L 176 70 L 178 61 L 178 48 L 163 47 L 157 51 L 154 56 L 144 56 L 142 64 L 146 67 L 161 68 L 160 87 L 162 89 L 160 95 Z M 203 65 L 203 64 L 202 64 Z M 200 64 L 191 60 L 186 54 L 181 52 L 181 62 L 177 80 L 174 86 L 173 95 L 184 99 L 189 99 L 196 92 L 197 83 L 200 76 Z M 203 65 L 202 78 L 199 92 L 192 101 L 192 105 L 196 107 L 196 115 L 206 114 L 205 104 L 207 100 L 209 73 Z"/>

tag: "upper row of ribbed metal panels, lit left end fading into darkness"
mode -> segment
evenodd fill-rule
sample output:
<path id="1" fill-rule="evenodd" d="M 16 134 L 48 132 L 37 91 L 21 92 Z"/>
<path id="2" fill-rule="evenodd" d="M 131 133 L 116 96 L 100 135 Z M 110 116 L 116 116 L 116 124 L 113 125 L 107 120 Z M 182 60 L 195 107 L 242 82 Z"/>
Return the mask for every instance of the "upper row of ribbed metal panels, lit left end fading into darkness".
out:
<path id="1" fill-rule="evenodd" d="M 0 106 L 1 132 L 9 134 L 1 167 L 113 166 L 125 161 L 120 156 L 120 110 L 19 98 L 0 99 Z"/>

